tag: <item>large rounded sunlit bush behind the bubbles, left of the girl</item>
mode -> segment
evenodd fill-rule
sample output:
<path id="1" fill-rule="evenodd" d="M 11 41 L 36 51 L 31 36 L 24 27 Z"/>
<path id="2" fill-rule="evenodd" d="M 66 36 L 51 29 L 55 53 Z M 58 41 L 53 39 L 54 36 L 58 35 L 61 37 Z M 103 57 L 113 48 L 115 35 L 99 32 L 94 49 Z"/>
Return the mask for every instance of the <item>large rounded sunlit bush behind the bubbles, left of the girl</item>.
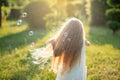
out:
<path id="1" fill-rule="evenodd" d="M 30 28 L 45 28 L 46 20 L 44 17 L 51 11 L 46 2 L 30 3 L 24 11 L 27 13 L 26 21 Z"/>

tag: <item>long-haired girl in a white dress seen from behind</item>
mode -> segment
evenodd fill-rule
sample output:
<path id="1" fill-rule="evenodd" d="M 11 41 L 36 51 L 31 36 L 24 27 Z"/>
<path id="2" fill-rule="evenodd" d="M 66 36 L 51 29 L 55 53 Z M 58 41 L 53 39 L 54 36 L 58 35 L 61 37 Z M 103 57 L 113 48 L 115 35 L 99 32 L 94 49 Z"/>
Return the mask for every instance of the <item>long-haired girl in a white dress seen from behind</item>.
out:
<path id="1" fill-rule="evenodd" d="M 53 70 L 56 80 L 86 80 L 85 40 L 83 24 L 71 18 L 50 41 L 53 49 Z"/>

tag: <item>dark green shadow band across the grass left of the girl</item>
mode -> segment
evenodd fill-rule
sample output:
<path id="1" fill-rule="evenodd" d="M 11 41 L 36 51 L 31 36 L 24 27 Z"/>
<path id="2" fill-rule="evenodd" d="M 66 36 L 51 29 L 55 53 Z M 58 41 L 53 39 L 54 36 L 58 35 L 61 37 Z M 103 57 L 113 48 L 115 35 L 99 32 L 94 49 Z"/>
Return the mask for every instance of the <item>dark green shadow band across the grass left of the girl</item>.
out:
<path id="1" fill-rule="evenodd" d="M 49 31 L 47 30 L 25 30 L 20 33 L 10 34 L 0 38 L 0 54 L 5 51 L 11 52 L 16 48 L 34 44 L 38 39 L 44 37 Z"/>

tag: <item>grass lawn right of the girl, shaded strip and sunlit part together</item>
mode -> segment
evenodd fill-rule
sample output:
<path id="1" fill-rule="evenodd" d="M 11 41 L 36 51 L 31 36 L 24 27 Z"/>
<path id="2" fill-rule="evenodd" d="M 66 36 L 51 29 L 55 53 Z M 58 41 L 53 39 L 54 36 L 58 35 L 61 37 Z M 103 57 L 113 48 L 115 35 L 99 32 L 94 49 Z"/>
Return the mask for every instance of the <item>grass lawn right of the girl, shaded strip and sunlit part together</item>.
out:
<path id="1" fill-rule="evenodd" d="M 105 27 L 91 27 L 87 38 L 88 80 L 120 80 L 120 32 L 112 34 Z"/>

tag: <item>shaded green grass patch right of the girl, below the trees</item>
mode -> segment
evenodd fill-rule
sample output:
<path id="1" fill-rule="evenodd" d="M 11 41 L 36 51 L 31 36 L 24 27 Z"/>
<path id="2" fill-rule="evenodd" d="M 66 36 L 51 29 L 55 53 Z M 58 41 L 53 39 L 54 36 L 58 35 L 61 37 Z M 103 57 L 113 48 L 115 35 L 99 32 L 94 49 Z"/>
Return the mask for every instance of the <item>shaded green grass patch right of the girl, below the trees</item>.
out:
<path id="1" fill-rule="evenodd" d="M 120 31 L 113 34 L 106 27 L 91 27 L 89 31 L 91 44 L 106 45 L 111 44 L 114 48 L 120 49 Z"/>

